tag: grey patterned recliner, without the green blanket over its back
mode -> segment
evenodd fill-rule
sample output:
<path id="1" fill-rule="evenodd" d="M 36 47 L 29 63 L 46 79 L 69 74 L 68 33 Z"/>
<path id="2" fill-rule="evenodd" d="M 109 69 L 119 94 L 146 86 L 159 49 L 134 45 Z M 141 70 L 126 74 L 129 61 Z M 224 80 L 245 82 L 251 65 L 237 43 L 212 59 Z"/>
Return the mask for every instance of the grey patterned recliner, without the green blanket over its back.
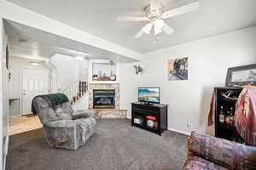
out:
<path id="1" fill-rule="evenodd" d="M 95 133 L 95 111 L 74 112 L 69 102 L 52 108 L 40 96 L 33 99 L 32 105 L 44 126 L 51 147 L 76 150 Z"/>

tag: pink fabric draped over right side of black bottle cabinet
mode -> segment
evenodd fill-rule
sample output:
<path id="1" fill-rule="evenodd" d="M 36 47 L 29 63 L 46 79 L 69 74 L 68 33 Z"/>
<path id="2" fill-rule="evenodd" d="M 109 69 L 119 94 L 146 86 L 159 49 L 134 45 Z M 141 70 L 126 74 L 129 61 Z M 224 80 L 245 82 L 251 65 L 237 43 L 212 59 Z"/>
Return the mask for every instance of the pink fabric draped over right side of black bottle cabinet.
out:
<path id="1" fill-rule="evenodd" d="M 256 146 L 256 88 L 243 88 L 236 102 L 235 116 L 241 138 Z"/>

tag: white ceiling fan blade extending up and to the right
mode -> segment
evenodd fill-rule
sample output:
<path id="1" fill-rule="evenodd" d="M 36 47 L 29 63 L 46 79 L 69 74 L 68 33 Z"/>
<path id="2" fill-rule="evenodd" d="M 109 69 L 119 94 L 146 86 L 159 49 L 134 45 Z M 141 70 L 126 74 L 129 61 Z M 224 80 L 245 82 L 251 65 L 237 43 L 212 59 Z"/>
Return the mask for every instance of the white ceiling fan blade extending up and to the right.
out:
<path id="1" fill-rule="evenodd" d="M 172 16 L 176 16 L 179 14 L 185 14 L 185 13 L 189 13 L 191 11 L 195 11 L 199 8 L 199 1 L 195 1 L 194 3 L 189 3 L 187 5 L 183 5 L 181 7 L 178 8 L 174 8 L 171 9 L 169 11 L 166 11 L 165 13 L 162 14 L 161 18 L 162 19 L 167 19 L 170 18 Z"/>

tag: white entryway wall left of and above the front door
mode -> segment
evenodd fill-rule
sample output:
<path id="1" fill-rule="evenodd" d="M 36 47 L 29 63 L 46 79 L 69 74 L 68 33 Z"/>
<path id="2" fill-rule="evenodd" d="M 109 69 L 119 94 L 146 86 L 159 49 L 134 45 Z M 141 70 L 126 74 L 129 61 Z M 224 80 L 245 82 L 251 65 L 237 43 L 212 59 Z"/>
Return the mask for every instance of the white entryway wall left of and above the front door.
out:
<path id="1" fill-rule="evenodd" d="M 10 99 L 18 98 L 12 102 L 12 105 L 9 107 L 9 116 L 20 116 L 20 88 L 21 88 L 21 69 L 22 68 L 33 68 L 33 69 L 42 69 L 49 71 L 49 69 L 44 65 L 33 66 L 30 65 L 30 59 L 21 59 L 16 57 L 9 58 L 9 70 L 11 73 L 11 80 L 9 82 L 9 96 Z"/>

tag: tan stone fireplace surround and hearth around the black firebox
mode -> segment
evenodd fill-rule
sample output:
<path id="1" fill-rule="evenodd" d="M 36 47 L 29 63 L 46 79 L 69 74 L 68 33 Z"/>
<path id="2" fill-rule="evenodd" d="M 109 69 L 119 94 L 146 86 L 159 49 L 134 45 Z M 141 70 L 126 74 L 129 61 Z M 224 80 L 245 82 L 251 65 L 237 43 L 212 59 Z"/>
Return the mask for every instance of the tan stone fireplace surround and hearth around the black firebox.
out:
<path id="1" fill-rule="evenodd" d="M 93 90 L 94 89 L 114 89 L 115 90 L 115 109 L 93 109 Z M 119 108 L 119 83 L 90 83 L 89 84 L 89 110 L 96 111 L 96 118 L 126 118 L 127 110 Z"/>

